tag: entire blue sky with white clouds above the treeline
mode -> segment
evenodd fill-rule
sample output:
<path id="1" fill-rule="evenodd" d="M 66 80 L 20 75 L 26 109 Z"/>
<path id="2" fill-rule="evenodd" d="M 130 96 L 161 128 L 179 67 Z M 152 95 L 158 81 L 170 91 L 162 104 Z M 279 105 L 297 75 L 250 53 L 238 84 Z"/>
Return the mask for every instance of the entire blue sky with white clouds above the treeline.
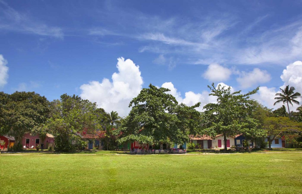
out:
<path id="1" fill-rule="evenodd" d="M 149 83 L 193 105 L 215 101 L 207 89 L 214 82 L 243 92 L 261 86 L 254 98 L 278 108 L 279 87 L 302 93 L 301 8 L 302 1 L 0 0 L 0 90 L 49 100 L 76 94 L 125 116 Z"/>

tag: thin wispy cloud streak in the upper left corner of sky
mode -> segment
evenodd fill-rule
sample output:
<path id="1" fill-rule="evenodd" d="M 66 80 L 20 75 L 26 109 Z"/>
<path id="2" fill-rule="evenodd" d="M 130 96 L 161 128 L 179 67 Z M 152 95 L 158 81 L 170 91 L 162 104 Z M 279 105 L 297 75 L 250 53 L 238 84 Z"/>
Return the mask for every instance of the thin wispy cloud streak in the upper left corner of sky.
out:
<path id="1" fill-rule="evenodd" d="M 48 26 L 31 18 L 28 14 L 16 11 L 3 1 L 0 1 L 0 21 L 0 30 L 2 31 L 64 38 L 63 30 L 60 27 Z"/>

